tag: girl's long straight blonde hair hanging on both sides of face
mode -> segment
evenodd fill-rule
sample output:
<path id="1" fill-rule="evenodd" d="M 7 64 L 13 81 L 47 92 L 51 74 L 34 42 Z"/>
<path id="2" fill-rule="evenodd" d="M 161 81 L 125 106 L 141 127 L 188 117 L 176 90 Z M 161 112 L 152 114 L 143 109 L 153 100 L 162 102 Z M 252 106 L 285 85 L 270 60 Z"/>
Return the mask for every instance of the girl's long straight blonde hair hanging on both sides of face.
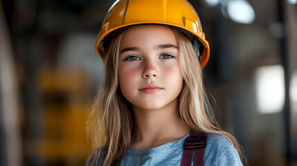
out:
<path id="1" fill-rule="evenodd" d="M 179 116 L 192 131 L 217 133 L 229 138 L 244 161 L 237 140 L 230 133 L 222 131 L 215 121 L 204 90 L 201 67 L 191 42 L 175 28 L 172 30 L 179 44 L 184 80 L 179 95 Z M 104 79 L 89 113 L 87 129 L 91 134 L 93 147 L 96 148 L 92 165 L 96 165 L 99 157 L 104 160 L 103 165 L 119 165 L 132 141 L 134 113 L 118 86 L 118 56 L 124 33 L 125 31 L 119 33 L 109 43 L 105 55 Z"/>

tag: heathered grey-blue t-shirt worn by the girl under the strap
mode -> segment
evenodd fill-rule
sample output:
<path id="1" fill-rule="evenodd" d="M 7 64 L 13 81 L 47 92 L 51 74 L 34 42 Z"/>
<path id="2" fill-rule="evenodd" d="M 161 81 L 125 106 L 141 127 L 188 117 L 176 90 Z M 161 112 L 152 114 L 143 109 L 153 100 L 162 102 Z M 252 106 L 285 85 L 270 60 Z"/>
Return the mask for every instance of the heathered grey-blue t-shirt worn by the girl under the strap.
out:
<path id="1" fill-rule="evenodd" d="M 185 136 L 176 142 L 169 142 L 151 149 L 128 149 L 120 165 L 181 165 Z M 87 161 L 91 165 L 93 156 Z M 102 165 L 102 160 L 98 160 Z M 204 154 L 204 165 L 242 165 L 232 142 L 225 136 L 208 133 Z"/>

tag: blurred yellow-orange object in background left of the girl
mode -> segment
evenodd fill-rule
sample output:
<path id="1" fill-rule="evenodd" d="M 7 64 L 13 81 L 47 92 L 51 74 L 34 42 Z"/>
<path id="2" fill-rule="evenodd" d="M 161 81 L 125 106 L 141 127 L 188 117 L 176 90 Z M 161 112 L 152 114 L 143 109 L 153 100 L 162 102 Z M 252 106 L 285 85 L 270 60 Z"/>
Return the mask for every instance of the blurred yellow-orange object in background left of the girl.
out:
<path id="1" fill-rule="evenodd" d="M 85 132 L 88 77 L 74 71 L 42 71 L 42 137 L 39 154 L 50 165 L 84 165 L 91 151 Z"/>

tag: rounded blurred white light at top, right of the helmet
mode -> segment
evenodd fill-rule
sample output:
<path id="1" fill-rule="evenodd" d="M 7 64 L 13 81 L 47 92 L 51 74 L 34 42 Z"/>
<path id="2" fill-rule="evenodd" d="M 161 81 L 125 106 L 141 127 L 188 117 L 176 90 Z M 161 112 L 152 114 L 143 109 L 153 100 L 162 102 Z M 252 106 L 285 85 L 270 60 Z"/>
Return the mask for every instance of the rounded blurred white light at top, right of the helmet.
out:
<path id="1" fill-rule="evenodd" d="M 246 0 L 231 0 L 227 4 L 228 16 L 240 24 L 251 24 L 255 20 L 255 11 Z"/>

